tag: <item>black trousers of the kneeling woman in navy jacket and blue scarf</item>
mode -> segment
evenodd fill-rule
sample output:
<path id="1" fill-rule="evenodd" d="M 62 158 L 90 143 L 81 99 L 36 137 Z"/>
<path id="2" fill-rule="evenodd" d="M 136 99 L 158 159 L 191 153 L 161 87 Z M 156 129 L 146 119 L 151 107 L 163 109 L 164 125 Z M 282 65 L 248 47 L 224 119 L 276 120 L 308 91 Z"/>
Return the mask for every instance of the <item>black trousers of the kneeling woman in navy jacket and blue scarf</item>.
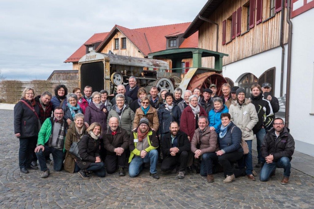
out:
<path id="1" fill-rule="evenodd" d="M 225 153 L 223 155 L 218 156 L 219 163 L 224 167 L 224 175 L 231 176 L 234 173 L 233 163 L 242 158 L 243 152 L 232 152 Z M 235 174 L 236 175 L 236 174 Z M 239 176 L 237 174 L 237 176 Z"/>

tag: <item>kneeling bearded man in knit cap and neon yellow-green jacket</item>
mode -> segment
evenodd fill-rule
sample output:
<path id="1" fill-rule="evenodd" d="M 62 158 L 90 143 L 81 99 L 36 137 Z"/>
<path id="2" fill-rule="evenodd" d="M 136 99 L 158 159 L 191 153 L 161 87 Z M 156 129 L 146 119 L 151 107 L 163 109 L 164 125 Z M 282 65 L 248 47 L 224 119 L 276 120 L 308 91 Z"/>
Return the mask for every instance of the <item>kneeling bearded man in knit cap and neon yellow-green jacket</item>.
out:
<path id="1" fill-rule="evenodd" d="M 158 138 L 156 131 L 149 128 L 149 121 L 143 117 L 139 121 L 139 126 L 131 133 L 129 148 L 131 151 L 129 158 L 129 175 L 130 177 L 137 176 L 143 169 L 142 164 L 150 162 L 149 175 L 154 179 L 159 179 L 157 174 Z"/>

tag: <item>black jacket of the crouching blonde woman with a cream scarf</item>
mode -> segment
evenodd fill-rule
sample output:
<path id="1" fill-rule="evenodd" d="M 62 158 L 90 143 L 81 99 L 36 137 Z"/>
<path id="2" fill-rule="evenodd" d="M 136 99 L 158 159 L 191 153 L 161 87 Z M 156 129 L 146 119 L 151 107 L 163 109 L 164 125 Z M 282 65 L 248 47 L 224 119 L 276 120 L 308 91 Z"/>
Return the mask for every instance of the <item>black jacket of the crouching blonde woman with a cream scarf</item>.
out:
<path id="1" fill-rule="evenodd" d="M 76 164 L 80 169 L 87 169 L 90 163 L 95 163 L 96 157 L 100 157 L 99 144 L 99 138 L 95 140 L 89 134 L 85 135 L 80 140 L 80 142 L 78 143 L 78 154 L 82 158 L 82 160 L 76 159 Z"/>

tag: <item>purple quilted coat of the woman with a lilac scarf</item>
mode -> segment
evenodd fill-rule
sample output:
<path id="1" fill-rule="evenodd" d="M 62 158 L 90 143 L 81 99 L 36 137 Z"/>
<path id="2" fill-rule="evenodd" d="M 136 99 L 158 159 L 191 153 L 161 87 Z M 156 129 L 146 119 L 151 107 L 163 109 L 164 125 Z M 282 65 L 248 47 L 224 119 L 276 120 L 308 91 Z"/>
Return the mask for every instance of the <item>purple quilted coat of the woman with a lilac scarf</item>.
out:
<path id="1" fill-rule="evenodd" d="M 106 108 L 104 104 L 101 104 L 100 109 L 98 109 L 93 102 L 89 103 L 88 107 L 85 110 L 85 117 L 84 121 L 87 122 L 89 125 L 97 122 L 100 123 L 102 136 L 107 130 L 107 116 L 108 116 L 108 110 L 105 113 L 103 109 Z M 102 138 L 100 136 L 100 138 Z"/>

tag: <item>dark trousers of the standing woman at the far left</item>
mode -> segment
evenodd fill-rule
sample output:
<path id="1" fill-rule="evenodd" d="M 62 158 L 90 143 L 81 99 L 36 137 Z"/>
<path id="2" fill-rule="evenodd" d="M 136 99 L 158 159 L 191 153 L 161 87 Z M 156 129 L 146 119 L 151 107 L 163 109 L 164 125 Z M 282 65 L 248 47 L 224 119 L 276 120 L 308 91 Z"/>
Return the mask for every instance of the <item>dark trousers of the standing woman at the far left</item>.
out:
<path id="1" fill-rule="evenodd" d="M 30 168 L 32 162 L 33 153 L 37 143 L 37 137 L 20 138 L 19 147 L 19 167 Z"/>

